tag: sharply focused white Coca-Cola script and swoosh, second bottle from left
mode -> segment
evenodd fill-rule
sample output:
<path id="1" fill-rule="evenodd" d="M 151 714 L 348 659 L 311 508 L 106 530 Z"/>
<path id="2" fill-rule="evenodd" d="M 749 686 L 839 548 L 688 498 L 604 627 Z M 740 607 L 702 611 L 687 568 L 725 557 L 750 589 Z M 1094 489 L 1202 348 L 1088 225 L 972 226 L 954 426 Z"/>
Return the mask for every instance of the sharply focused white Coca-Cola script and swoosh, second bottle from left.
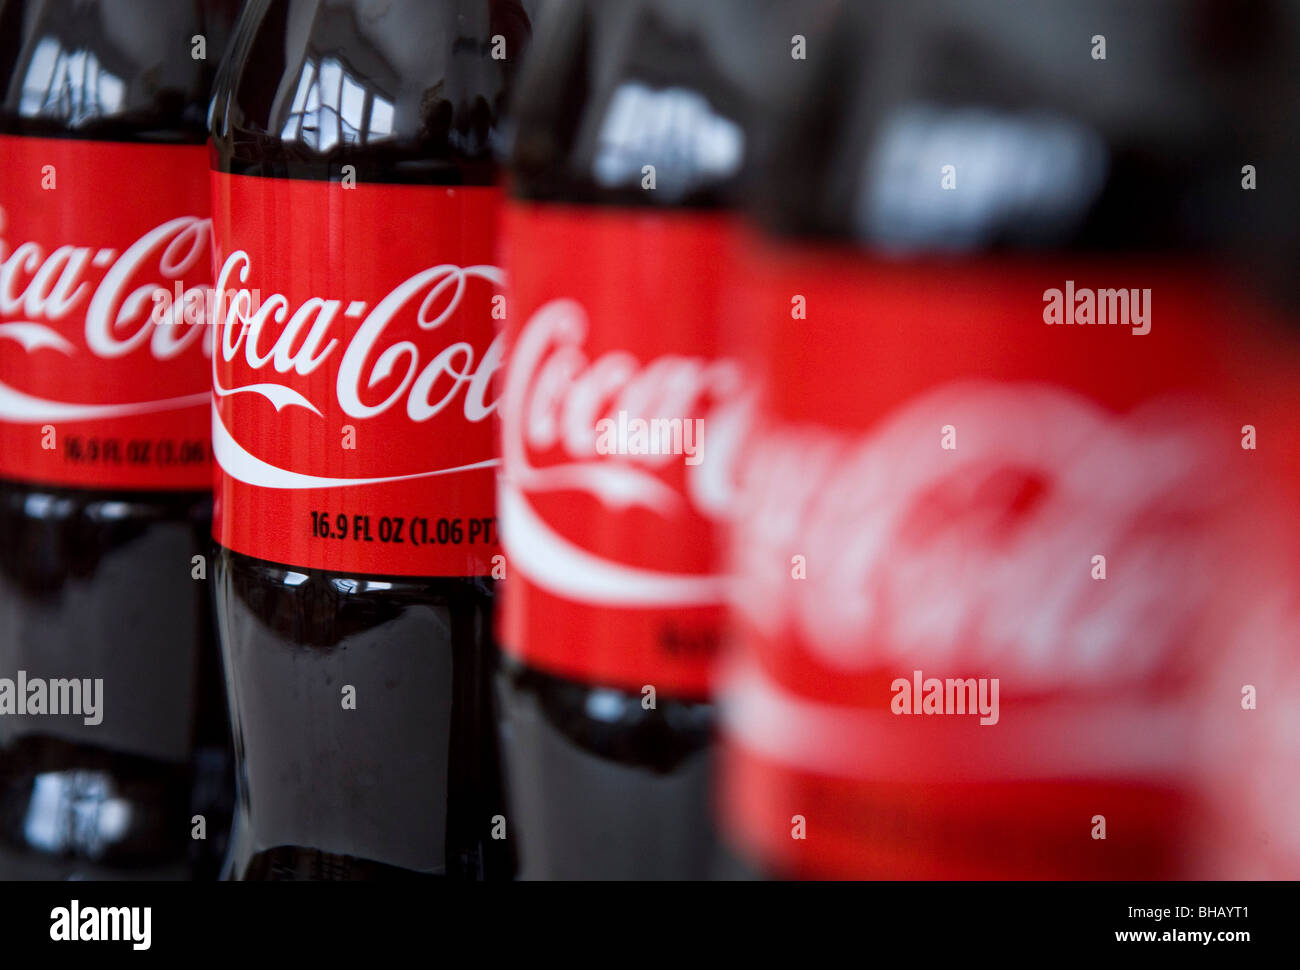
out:
<path id="1" fill-rule="evenodd" d="M 309 489 L 403 481 L 497 464 L 485 454 L 471 463 L 403 475 L 350 478 L 304 473 L 252 455 L 230 433 L 217 406 L 237 395 L 257 395 L 277 412 L 303 408 L 321 419 L 368 420 L 391 412 L 416 425 L 443 413 L 472 425 L 486 421 L 497 408 L 491 386 L 502 367 L 502 338 L 486 347 L 448 338 L 430 351 L 432 341 L 422 334 L 445 328 L 476 281 L 500 285 L 499 268 L 429 267 L 398 283 L 373 308 L 365 300 L 333 296 L 296 303 L 282 293 L 263 298 L 260 290 L 246 286 L 252 269 L 248 252 L 235 250 L 216 281 L 221 299 L 212 373 L 213 454 L 226 473 L 265 488 Z M 344 326 L 344 321 L 355 326 Z M 328 385 L 312 380 L 317 371 L 333 374 L 333 380 Z M 312 393 L 312 387 L 317 390 Z"/>

